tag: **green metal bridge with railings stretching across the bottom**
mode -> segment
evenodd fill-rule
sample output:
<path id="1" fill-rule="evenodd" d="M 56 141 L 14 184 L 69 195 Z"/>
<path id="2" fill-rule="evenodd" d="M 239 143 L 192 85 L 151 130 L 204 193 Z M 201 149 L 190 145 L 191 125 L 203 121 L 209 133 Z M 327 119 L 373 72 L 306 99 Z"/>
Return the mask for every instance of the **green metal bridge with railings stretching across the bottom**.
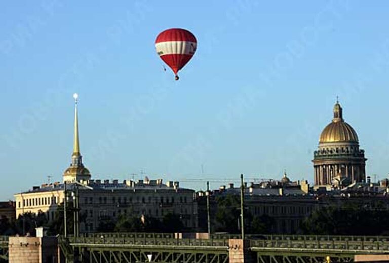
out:
<path id="1" fill-rule="evenodd" d="M 185 237 L 185 236 L 184 236 Z M 177 238 L 160 233 L 96 233 L 58 237 L 68 262 L 323 263 L 352 262 L 355 255 L 389 254 L 389 236 L 212 235 Z M 241 255 L 241 256 L 239 256 Z M 8 237 L 0 237 L 0 262 Z"/>

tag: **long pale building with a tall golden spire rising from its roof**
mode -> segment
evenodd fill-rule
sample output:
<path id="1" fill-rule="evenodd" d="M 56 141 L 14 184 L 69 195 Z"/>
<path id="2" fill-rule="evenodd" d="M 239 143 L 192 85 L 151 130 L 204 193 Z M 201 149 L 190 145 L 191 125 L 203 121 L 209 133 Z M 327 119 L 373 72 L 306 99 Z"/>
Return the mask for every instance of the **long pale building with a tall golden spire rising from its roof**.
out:
<path id="1" fill-rule="evenodd" d="M 75 97 L 76 99 L 76 97 Z M 45 213 L 53 220 L 55 211 L 67 197 L 77 193 L 80 208 L 80 232 L 95 232 L 102 220 L 115 221 L 120 215 L 153 217 L 162 220 L 166 214 L 180 216 L 185 227 L 197 228 L 195 191 L 184 189 L 177 181 L 163 183 L 150 180 L 91 179 L 80 152 L 77 101 L 74 108 L 74 141 L 70 166 L 63 173 L 63 182 L 34 186 L 15 194 L 16 217 L 26 212 Z"/>

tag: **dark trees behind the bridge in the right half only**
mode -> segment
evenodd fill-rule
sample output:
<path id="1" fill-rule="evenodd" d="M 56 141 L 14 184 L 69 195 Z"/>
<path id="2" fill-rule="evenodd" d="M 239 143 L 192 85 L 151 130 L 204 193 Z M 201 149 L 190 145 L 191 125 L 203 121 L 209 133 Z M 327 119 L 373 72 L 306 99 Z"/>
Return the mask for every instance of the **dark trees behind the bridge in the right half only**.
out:
<path id="1" fill-rule="evenodd" d="M 212 232 L 240 233 L 240 196 L 216 198 Z M 389 208 L 380 201 L 361 204 L 345 200 L 341 205 L 320 207 L 302 220 L 300 235 L 389 235 Z M 276 233 L 276 220 L 266 214 L 252 215 L 245 209 L 245 231 L 249 234 Z"/>

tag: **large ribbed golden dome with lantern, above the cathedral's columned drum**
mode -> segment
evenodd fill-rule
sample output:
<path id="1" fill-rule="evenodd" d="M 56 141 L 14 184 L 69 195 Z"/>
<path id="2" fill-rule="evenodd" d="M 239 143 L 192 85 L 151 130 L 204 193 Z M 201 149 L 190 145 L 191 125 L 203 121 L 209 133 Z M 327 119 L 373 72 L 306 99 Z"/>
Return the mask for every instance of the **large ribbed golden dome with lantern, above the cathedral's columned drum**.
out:
<path id="1" fill-rule="evenodd" d="M 334 119 L 324 128 L 320 135 L 320 143 L 325 142 L 357 142 L 358 135 L 351 125 L 344 122 L 342 107 L 338 102 L 334 106 Z"/>

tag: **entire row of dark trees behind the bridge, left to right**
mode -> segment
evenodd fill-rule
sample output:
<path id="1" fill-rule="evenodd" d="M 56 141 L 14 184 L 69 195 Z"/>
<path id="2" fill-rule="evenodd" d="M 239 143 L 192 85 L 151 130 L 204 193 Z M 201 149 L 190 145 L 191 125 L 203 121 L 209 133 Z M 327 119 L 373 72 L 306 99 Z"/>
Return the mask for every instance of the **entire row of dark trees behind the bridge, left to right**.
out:
<path id="1" fill-rule="evenodd" d="M 73 209 L 67 207 L 67 233 L 73 234 Z M 231 234 L 241 233 L 240 197 L 226 195 L 216 198 L 212 211 L 211 230 Z M 358 204 L 350 200 L 343 205 L 322 207 L 314 210 L 302 221 L 296 234 L 302 235 L 389 235 L 389 209 L 379 202 Z M 80 213 L 80 222 L 86 214 Z M 276 220 L 266 214 L 252 215 L 245 209 L 245 231 L 248 234 L 276 234 Z M 0 235 L 35 234 L 36 227 L 47 227 L 49 235 L 64 233 L 63 206 L 55 212 L 54 220 L 48 222 L 44 213 L 25 213 L 16 220 L 0 218 Z M 99 221 L 98 232 L 195 232 L 184 227 L 180 215 L 166 214 L 162 220 L 122 214 L 115 220 L 106 217 Z M 203 230 L 204 231 L 204 230 Z M 279 234 L 279 233 L 277 233 Z"/>

